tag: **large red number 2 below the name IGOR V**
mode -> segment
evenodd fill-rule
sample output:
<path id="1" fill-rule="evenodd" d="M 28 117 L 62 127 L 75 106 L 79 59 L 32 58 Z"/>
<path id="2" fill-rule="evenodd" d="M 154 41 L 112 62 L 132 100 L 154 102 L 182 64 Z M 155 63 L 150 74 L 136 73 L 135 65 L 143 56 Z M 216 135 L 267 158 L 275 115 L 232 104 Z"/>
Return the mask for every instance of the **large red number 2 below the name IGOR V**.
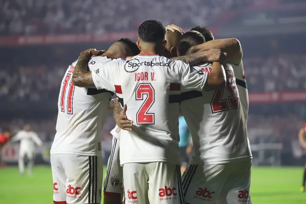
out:
<path id="1" fill-rule="evenodd" d="M 155 101 L 155 91 L 151 84 L 139 84 L 136 89 L 136 100 L 144 100 L 136 114 L 137 124 L 154 124 L 154 113 L 148 113 Z M 144 99 L 144 95 L 147 97 Z"/>

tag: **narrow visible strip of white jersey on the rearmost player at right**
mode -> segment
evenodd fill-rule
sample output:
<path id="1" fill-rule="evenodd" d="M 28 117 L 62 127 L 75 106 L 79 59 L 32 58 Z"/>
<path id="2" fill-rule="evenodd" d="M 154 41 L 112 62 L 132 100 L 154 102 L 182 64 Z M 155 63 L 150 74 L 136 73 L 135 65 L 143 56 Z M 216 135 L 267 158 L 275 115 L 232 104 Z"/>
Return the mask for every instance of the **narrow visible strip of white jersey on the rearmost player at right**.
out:
<path id="1" fill-rule="evenodd" d="M 239 92 L 239 98 L 242 105 L 244 117 L 247 120 L 248 119 L 248 107 L 249 107 L 249 101 L 248 101 L 248 91 L 246 86 L 246 80 L 245 80 L 245 74 L 243 69 L 243 62 L 241 61 L 239 65 L 234 64 L 227 64 L 227 66 L 230 68 L 233 67 L 234 70 L 234 76 L 236 78 L 236 85 Z"/>

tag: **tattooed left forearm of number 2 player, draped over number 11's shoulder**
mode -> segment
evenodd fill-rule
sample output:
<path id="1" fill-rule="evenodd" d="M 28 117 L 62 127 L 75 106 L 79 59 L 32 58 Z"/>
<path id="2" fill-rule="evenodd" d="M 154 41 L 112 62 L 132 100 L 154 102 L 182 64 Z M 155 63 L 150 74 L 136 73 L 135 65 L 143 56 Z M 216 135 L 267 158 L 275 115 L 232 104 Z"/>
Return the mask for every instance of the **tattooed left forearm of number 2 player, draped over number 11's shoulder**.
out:
<path id="1" fill-rule="evenodd" d="M 87 71 L 87 58 L 79 57 L 77 65 L 75 65 L 72 82 L 74 86 L 78 87 L 94 87 L 92 75 Z"/>

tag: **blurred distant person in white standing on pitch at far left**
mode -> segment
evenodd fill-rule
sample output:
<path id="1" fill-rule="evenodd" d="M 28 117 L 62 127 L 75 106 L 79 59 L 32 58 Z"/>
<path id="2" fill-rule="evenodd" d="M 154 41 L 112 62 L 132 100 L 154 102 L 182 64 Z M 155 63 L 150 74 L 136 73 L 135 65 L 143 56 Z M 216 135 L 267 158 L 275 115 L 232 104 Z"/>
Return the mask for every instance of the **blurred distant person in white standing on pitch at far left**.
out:
<path id="1" fill-rule="evenodd" d="M 24 158 L 28 159 L 28 174 L 32 175 L 32 168 L 35 159 L 35 145 L 42 146 L 42 141 L 38 135 L 31 131 L 31 126 L 26 124 L 23 130 L 19 131 L 13 138 L 12 142 L 20 140 L 18 167 L 20 174 L 24 173 Z"/>

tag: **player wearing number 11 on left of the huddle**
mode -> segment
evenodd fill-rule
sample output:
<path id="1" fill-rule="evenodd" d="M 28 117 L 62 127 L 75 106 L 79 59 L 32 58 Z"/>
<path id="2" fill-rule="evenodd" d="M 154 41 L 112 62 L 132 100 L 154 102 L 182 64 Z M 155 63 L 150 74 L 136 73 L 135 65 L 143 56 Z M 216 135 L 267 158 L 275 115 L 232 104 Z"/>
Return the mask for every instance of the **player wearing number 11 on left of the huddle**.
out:
<path id="1" fill-rule="evenodd" d="M 113 43 L 101 56 L 92 56 L 86 67 L 107 64 L 114 58 L 137 55 L 130 39 Z M 50 150 L 54 203 L 100 203 L 103 182 L 100 136 L 113 93 L 94 86 L 74 86 L 72 73 L 78 61 L 67 69 L 59 93 L 56 135 Z M 110 101 L 111 100 L 111 101 Z M 110 104 L 109 104 L 110 101 Z"/>

